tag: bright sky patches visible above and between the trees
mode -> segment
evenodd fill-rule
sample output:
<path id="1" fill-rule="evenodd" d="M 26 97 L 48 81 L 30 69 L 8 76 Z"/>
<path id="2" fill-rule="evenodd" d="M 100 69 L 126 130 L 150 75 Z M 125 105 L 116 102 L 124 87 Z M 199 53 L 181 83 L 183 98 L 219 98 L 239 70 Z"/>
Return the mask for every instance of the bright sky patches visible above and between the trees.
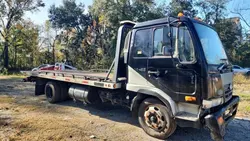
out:
<path id="1" fill-rule="evenodd" d="M 46 20 L 48 20 L 48 9 L 50 8 L 50 6 L 52 4 L 55 4 L 56 6 L 59 6 L 62 4 L 63 0 L 43 0 L 44 3 L 46 4 L 45 7 L 40 8 L 40 11 L 34 12 L 34 13 L 30 13 L 27 12 L 25 14 L 25 19 L 30 19 L 31 21 L 33 21 L 35 24 L 39 24 L 42 25 L 44 24 L 44 22 Z M 156 3 L 162 3 L 162 2 L 169 2 L 170 0 L 155 0 Z M 87 12 L 87 8 L 89 5 L 93 4 L 93 0 L 76 0 L 77 3 L 84 3 L 85 7 L 86 7 L 86 12 Z M 250 7 L 250 0 L 232 0 L 228 6 L 227 9 L 228 11 L 233 11 L 236 7 L 242 7 L 242 8 L 249 8 Z M 250 12 L 250 11 L 248 11 Z M 237 15 L 232 14 L 232 13 L 228 13 L 228 17 L 235 17 Z M 250 19 L 250 14 L 249 13 L 243 13 L 243 16 L 246 17 L 246 19 Z M 248 20 L 250 21 L 250 20 Z M 246 25 L 244 24 L 244 22 L 241 22 L 243 28 L 246 27 Z"/>

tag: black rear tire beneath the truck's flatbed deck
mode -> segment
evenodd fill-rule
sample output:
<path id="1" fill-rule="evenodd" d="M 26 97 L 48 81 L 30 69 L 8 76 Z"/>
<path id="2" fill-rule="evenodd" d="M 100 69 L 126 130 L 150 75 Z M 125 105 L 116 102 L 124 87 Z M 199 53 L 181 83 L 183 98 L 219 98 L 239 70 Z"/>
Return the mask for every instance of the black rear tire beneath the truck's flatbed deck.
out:
<path id="1" fill-rule="evenodd" d="M 55 82 L 48 82 L 45 85 L 45 95 L 49 103 L 56 103 L 61 101 L 61 89 Z"/>

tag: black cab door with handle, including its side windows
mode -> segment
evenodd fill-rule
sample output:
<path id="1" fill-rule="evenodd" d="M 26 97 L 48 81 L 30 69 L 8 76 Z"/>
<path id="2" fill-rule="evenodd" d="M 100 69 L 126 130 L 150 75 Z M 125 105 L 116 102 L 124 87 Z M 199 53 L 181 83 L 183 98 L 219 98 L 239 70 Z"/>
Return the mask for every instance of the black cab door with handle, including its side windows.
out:
<path id="1" fill-rule="evenodd" d="M 162 25 L 153 31 L 154 49 L 148 58 L 148 81 L 174 100 L 185 101 L 185 96 L 195 95 L 197 89 L 191 34 L 186 26 L 177 29 Z"/>

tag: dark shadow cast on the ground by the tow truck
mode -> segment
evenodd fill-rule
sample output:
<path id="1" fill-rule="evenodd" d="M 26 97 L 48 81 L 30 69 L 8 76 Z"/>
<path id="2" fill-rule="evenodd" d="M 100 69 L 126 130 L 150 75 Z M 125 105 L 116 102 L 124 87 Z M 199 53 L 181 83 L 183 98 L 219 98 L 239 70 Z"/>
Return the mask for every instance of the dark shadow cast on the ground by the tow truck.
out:
<path id="1" fill-rule="evenodd" d="M 58 103 L 62 106 L 73 106 L 86 110 L 92 115 L 106 118 L 116 122 L 128 123 L 133 126 L 139 126 L 137 118 L 133 118 L 128 108 L 111 105 L 111 104 L 99 104 L 99 105 L 83 105 L 82 103 L 74 103 L 72 101 L 65 101 Z M 225 141 L 242 141 L 250 140 L 250 120 L 248 119 L 234 119 L 227 127 Z M 146 134 L 145 134 L 146 135 Z M 207 129 L 194 129 L 194 128 L 180 128 L 173 135 L 171 135 L 168 141 L 178 140 L 211 140 L 210 133 Z"/>

